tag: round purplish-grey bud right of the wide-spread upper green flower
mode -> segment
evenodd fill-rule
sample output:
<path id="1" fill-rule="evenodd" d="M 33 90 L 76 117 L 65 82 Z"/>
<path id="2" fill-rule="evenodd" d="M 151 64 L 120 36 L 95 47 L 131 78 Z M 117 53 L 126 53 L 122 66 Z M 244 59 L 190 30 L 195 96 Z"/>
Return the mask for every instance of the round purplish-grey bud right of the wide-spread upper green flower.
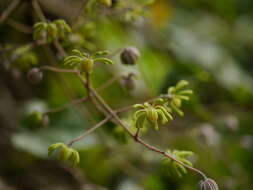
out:
<path id="1" fill-rule="evenodd" d="M 121 62 L 125 65 L 134 65 L 139 57 L 140 52 L 135 47 L 125 48 L 120 54 Z"/>

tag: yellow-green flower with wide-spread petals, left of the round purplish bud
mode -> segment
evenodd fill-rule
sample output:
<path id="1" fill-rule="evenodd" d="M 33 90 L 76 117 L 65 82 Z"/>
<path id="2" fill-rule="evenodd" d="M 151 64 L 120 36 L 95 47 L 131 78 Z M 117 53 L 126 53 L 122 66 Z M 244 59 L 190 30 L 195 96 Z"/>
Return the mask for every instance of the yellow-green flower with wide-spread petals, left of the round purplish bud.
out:
<path id="1" fill-rule="evenodd" d="M 63 64 L 76 68 L 81 72 L 92 73 L 95 63 L 112 64 L 110 59 L 103 57 L 108 53 L 108 51 L 98 51 L 89 55 L 74 49 L 72 54 L 64 59 Z"/>

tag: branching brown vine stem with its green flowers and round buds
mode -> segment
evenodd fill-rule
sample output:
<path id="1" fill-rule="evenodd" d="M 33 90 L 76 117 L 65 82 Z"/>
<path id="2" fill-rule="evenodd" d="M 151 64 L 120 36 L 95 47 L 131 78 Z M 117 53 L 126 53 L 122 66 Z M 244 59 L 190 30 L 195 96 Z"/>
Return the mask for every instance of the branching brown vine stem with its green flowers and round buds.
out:
<path id="1" fill-rule="evenodd" d="M 48 155 L 56 155 L 60 160 L 68 160 L 73 165 L 76 165 L 80 161 L 79 153 L 77 150 L 72 148 L 74 143 L 84 139 L 86 136 L 95 132 L 98 128 L 104 126 L 107 122 L 111 121 L 116 125 L 121 126 L 125 132 L 137 143 L 142 145 L 144 148 L 161 154 L 164 156 L 164 167 L 170 175 L 176 175 L 182 177 L 183 174 L 187 173 L 187 170 L 198 174 L 201 177 L 199 183 L 200 190 L 218 190 L 216 182 L 200 171 L 199 169 L 193 167 L 192 163 L 188 160 L 189 156 L 193 155 L 191 151 L 180 151 L 180 150 L 161 150 L 156 146 L 146 143 L 143 139 L 140 138 L 141 129 L 145 126 L 151 126 L 155 130 L 159 130 L 159 126 L 169 121 L 173 120 L 174 113 L 179 116 L 183 116 L 182 103 L 183 101 L 188 101 L 190 95 L 193 94 L 191 89 L 187 89 L 188 82 L 185 80 L 179 81 L 175 86 L 169 87 L 167 94 L 161 94 L 158 97 L 154 97 L 145 102 L 138 104 L 130 105 L 127 107 L 119 108 L 113 110 L 108 103 L 100 96 L 99 90 L 106 88 L 108 85 L 112 84 L 117 79 L 110 80 L 104 87 L 95 89 L 90 80 L 90 75 L 95 71 L 95 64 L 103 63 L 107 65 L 113 64 L 110 59 L 110 54 L 108 51 L 96 51 L 94 53 L 87 53 L 77 49 L 73 49 L 70 54 L 66 53 L 64 47 L 62 47 L 59 40 L 65 39 L 72 32 L 71 26 L 67 24 L 65 20 L 57 19 L 53 21 L 46 20 L 45 15 L 43 14 L 39 3 L 37 0 L 32 0 L 32 6 L 34 11 L 37 13 L 39 22 L 34 24 L 33 30 L 33 39 L 32 43 L 26 45 L 27 55 L 21 57 L 22 62 L 37 62 L 34 60 L 34 55 L 29 52 L 29 50 L 38 45 L 49 45 L 53 44 L 61 55 L 62 64 L 68 69 L 62 69 L 57 66 L 45 65 L 41 67 L 34 67 L 27 73 L 28 80 L 33 84 L 38 84 L 43 80 L 43 73 L 45 71 L 51 71 L 56 73 L 71 73 L 74 74 L 82 83 L 83 87 L 87 91 L 87 96 L 84 96 L 80 99 L 73 99 L 66 105 L 62 107 L 55 108 L 52 110 L 41 112 L 31 113 L 31 119 L 35 119 L 35 123 L 40 123 L 47 125 L 49 122 L 49 113 L 55 113 L 62 111 L 72 104 L 79 104 L 84 101 L 91 101 L 92 104 L 104 115 L 104 119 L 98 122 L 96 125 L 91 127 L 89 130 L 80 134 L 80 136 L 70 140 L 68 143 L 57 142 L 48 147 Z M 112 1 L 110 0 L 100 0 L 105 6 L 111 6 Z M 3 14 L 0 21 L 3 22 L 6 20 L 6 17 L 10 14 L 19 1 L 13 1 L 11 7 L 8 9 L 8 12 Z M 79 14 L 80 15 L 80 14 Z M 78 16 L 79 17 L 79 16 Z M 76 20 L 78 20 L 78 17 Z M 73 21 L 75 23 L 75 21 Z M 17 49 L 17 48 L 14 48 Z M 12 48 L 8 49 L 11 51 Z M 4 50 L 6 51 L 6 49 Z M 126 65 L 134 65 L 140 57 L 140 53 L 135 47 L 128 47 L 121 51 L 120 54 L 121 61 Z M 129 75 L 132 77 L 133 75 Z M 125 78 L 129 79 L 129 78 Z M 130 79 L 129 79 L 130 80 Z M 124 122 L 119 114 L 123 112 L 128 112 L 135 110 L 132 115 L 134 121 L 134 126 L 136 131 L 133 132 L 130 130 L 128 123 Z"/>

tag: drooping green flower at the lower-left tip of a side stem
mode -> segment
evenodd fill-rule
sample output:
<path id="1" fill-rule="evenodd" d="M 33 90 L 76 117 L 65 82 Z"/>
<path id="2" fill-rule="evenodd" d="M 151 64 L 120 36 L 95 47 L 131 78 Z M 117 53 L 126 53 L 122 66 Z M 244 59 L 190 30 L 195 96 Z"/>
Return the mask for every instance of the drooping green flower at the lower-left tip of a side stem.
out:
<path id="1" fill-rule="evenodd" d="M 63 143 L 55 143 L 52 144 L 48 147 L 48 156 L 51 156 L 53 152 L 58 150 L 58 158 L 59 160 L 69 160 L 71 161 L 74 165 L 78 164 L 80 161 L 79 153 L 73 149 L 69 148 Z"/>

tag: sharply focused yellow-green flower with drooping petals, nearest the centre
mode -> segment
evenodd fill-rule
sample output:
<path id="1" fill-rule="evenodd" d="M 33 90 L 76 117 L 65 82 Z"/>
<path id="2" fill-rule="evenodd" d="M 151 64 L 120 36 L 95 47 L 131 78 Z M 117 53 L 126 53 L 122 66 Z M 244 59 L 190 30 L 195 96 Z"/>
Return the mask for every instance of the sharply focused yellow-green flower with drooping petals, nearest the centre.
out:
<path id="1" fill-rule="evenodd" d="M 148 121 L 154 126 L 155 130 L 158 130 L 158 122 L 165 124 L 173 119 L 169 110 L 162 105 L 155 105 L 155 102 L 153 105 L 149 103 L 135 104 L 134 107 L 139 108 L 134 114 L 135 126 L 137 128 L 142 128 L 145 125 L 145 122 Z"/>

